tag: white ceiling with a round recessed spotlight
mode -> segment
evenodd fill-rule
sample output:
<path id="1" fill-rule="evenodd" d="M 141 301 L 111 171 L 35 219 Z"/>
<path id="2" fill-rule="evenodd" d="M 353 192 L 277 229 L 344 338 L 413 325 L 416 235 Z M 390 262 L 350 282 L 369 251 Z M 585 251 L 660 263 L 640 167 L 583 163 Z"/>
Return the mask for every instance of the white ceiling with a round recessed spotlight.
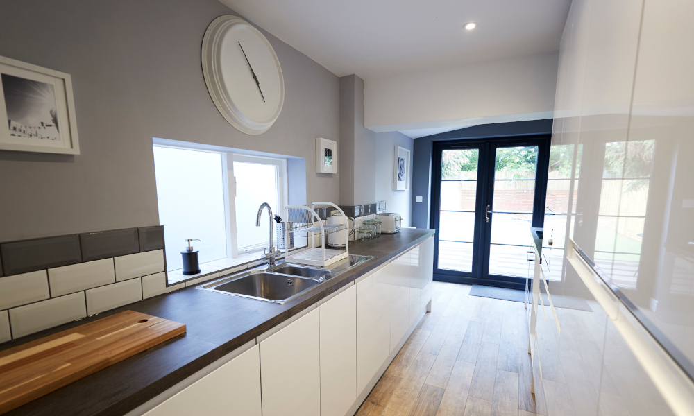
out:
<path id="1" fill-rule="evenodd" d="M 220 0 L 337 76 L 559 49 L 570 0 Z M 477 28 L 463 26 L 476 21 Z"/>

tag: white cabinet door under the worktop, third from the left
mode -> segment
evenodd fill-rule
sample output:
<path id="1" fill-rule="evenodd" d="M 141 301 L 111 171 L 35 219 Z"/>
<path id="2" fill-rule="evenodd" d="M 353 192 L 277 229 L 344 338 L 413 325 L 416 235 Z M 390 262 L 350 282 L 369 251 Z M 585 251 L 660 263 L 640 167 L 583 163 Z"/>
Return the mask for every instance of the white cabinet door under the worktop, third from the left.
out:
<path id="1" fill-rule="evenodd" d="M 357 399 L 357 286 L 320 306 L 321 416 L 344 416 Z"/>

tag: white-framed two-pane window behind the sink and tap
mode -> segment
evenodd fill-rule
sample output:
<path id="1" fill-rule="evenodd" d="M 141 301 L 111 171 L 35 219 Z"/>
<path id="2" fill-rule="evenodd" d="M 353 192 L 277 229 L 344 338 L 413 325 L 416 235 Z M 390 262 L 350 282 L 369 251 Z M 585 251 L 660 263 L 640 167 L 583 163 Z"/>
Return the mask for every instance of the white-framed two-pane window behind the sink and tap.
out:
<path id="1" fill-rule="evenodd" d="M 185 239 L 201 240 L 193 241 L 200 263 L 261 252 L 269 245 L 267 214 L 260 227 L 255 219 L 262 202 L 282 216 L 285 159 L 155 144 L 154 164 L 169 270 L 183 267 Z"/>

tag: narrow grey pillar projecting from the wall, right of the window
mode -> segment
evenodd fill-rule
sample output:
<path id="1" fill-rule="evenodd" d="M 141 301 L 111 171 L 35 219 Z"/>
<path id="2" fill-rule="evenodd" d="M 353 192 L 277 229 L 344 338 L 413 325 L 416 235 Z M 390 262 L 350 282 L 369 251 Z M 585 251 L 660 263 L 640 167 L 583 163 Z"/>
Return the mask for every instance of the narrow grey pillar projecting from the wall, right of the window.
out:
<path id="1" fill-rule="evenodd" d="M 340 78 L 340 202 L 375 202 L 376 133 L 364 128 L 364 80 Z M 341 166 L 341 167 L 340 167 Z"/>

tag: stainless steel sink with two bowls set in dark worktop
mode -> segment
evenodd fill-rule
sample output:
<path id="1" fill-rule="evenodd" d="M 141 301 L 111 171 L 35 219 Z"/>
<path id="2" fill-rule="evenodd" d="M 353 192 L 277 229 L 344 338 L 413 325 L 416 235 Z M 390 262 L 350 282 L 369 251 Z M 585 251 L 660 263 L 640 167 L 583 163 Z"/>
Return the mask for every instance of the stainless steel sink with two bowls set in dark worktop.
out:
<path id="1" fill-rule="evenodd" d="M 323 281 L 323 277 L 299 277 L 257 271 L 240 277 L 220 279 L 199 287 L 208 291 L 283 304 Z"/>

